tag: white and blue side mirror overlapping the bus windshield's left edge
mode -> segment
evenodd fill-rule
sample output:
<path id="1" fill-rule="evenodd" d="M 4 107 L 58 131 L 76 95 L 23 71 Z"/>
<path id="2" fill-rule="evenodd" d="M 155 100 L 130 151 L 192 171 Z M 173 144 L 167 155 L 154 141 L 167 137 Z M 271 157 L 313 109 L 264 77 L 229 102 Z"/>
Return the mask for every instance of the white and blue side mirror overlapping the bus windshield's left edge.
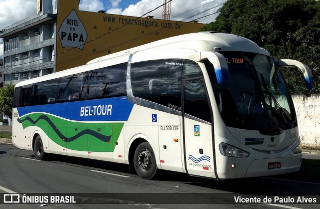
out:
<path id="1" fill-rule="evenodd" d="M 229 85 L 229 69 L 223 55 L 218 52 L 201 52 L 200 60 L 212 63 L 218 84 Z"/>

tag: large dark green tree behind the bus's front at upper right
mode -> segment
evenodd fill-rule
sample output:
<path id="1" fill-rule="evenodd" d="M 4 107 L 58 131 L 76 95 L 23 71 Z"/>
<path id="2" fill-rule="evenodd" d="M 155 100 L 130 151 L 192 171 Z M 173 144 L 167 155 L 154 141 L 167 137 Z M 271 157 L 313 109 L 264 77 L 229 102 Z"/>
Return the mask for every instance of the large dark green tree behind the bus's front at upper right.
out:
<path id="1" fill-rule="evenodd" d="M 201 31 L 218 31 L 250 39 L 274 59 L 294 59 L 312 71 L 314 88 L 305 89 L 297 69 L 281 72 L 293 94 L 320 93 L 320 1 L 228 0 L 215 22 Z M 298 76 L 297 76 L 298 75 Z"/>

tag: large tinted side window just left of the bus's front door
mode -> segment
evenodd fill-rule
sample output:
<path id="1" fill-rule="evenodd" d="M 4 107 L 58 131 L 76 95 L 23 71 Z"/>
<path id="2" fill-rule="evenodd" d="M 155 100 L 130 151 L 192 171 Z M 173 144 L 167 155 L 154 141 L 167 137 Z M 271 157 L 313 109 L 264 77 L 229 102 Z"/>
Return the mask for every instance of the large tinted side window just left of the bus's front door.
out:
<path id="1" fill-rule="evenodd" d="M 153 60 L 131 64 L 133 96 L 181 110 L 183 60 Z"/>

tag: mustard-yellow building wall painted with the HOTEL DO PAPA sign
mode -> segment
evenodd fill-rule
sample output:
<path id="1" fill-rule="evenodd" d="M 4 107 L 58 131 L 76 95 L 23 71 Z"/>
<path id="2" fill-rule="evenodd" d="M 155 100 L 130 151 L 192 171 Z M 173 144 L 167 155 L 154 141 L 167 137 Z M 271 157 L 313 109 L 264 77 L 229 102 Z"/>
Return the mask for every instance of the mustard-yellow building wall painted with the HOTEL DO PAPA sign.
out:
<path id="1" fill-rule="evenodd" d="M 204 24 L 79 11 L 79 0 L 58 1 L 56 71 L 114 52 L 186 33 Z"/>

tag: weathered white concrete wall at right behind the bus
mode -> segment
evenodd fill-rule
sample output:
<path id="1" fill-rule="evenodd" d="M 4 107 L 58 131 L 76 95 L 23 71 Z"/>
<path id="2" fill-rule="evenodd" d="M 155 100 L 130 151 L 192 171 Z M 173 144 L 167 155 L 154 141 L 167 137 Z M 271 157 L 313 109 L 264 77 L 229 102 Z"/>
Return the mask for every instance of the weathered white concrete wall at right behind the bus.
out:
<path id="1" fill-rule="evenodd" d="M 292 95 L 303 145 L 320 146 L 320 95 Z"/>

